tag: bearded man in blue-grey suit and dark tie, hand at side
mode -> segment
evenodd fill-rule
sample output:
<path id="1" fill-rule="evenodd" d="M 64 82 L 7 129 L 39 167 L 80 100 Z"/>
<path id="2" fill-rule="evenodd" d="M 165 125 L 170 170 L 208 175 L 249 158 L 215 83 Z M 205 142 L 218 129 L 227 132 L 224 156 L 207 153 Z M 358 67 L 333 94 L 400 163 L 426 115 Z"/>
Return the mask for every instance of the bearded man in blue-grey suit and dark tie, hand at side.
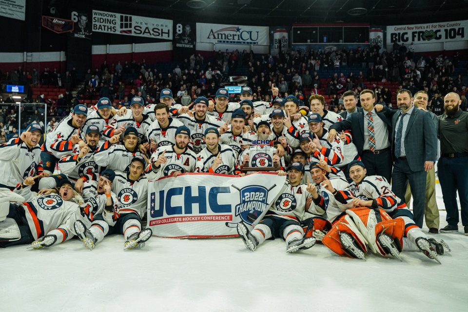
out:
<path id="1" fill-rule="evenodd" d="M 392 118 L 391 190 L 401 199 L 405 198 L 409 181 L 413 195 L 413 220 L 423 226 L 426 206 L 426 172 L 434 167 L 437 150 L 437 133 L 428 112 L 413 106 L 411 92 L 401 89 L 396 95 L 400 112 Z"/>

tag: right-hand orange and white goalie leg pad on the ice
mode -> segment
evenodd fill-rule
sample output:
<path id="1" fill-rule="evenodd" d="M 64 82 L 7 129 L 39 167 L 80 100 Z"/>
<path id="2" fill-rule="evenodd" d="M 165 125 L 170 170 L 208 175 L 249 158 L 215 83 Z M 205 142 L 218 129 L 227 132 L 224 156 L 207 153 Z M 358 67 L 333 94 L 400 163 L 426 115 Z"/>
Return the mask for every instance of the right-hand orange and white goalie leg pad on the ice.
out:
<path id="1" fill-rule="evenodd" d="M 382 209 L 370 209 L 366 207 L 351 208 L 346 211 L 356 225 L 357 229 L 366 239 L 369 249 L 374 254 L 386 255 L 387 253 L 377 242 L 377 235 L 384 231 L 394 241 L 396 246 L 403 245 L 405 222 L 402 219 L 392 219 Z M 401 248 L 398 248 L 401 251 Z"/>

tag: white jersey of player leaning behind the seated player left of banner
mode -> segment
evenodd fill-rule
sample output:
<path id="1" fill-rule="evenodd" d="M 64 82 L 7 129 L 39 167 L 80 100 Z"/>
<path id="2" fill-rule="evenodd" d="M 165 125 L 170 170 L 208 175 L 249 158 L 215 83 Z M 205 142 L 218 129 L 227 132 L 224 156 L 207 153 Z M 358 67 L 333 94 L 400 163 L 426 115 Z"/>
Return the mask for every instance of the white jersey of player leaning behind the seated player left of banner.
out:
<path id="1" fill-rule="evenodd" d="M 137 155 L 142 155 L 137 149 L 132 152 L 125 145 L 111 144 L 106 141 L 94 153 L 94 161 L 98 166 L 127 172 L 133 157 Z"/>

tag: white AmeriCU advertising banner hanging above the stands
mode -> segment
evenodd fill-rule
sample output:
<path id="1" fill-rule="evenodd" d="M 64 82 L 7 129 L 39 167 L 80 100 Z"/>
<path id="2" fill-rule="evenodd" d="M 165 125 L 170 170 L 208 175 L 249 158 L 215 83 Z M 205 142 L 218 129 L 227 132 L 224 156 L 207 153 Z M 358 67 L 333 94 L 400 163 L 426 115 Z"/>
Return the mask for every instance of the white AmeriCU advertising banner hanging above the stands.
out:
<path id="1" fill-rule="evenodd" d="M 247 45 L 269 45 L 268 26 L 196 23 L 196 41 Z"/>

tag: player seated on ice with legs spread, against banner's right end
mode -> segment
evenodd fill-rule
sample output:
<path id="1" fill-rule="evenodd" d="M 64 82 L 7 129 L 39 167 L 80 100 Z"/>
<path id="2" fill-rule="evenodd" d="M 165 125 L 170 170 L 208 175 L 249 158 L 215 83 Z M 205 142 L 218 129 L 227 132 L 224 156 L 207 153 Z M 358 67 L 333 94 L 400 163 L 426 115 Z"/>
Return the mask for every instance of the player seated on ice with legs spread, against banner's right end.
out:
<path id="1" fill-rule="evenodd" d="M 284 172 L 278 174 L 282 175 Z M 237 233 L 251 251 L 254 251 L 265 239 L 274 239 L 278 236 L 285 240 L 288 253 L 309 249 L 315 244 L 315 237 L 304 237 L 300 220 L 303 219 L 306 209 L 314 215 L 322 215 L 325 211 L 316 202 L 319 196 L 315 186 L 310 183 L 300 184 L 304 176 L 304 166 L 301 163 L 293 162 L 288 175 L 289 181 L 285 182 L 279 195 L 273 200 L 272 206 L 252 232 L 243 222 L 237 224 Z M 311 195 L 313 203 L 310 207 L 306 207 L 310 203 L 308 198 Z"/>

